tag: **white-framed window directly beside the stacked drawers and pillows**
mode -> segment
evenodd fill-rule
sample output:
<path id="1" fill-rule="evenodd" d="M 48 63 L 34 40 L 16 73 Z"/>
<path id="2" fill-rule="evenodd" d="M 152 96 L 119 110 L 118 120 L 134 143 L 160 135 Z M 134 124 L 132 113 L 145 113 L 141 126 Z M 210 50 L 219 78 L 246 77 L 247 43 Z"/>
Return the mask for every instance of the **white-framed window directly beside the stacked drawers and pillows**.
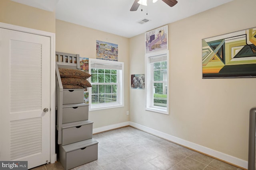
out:
<path id="1" fill-rule="evenodd" d="M 92 88 L 89 88 L 90 110 L 124 106 L 124 63 L 89 59 Z"/>

